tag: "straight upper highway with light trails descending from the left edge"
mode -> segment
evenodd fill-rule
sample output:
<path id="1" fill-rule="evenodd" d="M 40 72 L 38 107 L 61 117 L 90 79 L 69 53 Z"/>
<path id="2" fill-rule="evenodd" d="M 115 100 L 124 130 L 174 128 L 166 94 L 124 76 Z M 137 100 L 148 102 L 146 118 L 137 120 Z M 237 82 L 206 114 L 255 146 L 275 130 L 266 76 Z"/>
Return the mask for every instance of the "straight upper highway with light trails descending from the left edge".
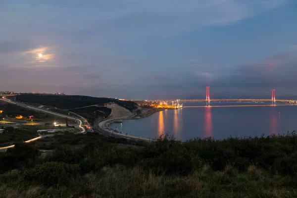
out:
<path id="1" fill-rule="evenodd" d="M 79 128 L 81 129 L 81 133 L 85 133 L 86 130 L 84 127 L 82 127 L 82 121 L 76 117 L 72 117 L 72 116 L 68 116 L 68 115 L 64 115 L 64 114 L 61 114 L 61 113 L 56 113 L 56 112 L 53 112 L 53 111 L 49 111 L 47 109 L 41 109 L 41 108 L 38 108 L 38 107 L 35 107 L 35 106 L 31 106 L 31 105 L 28 105 L 28 104 L 24 104 L 24 103 L 21 103 L 21 102 L 15 102 L 15 101 L 12 101 L 10 99 L 5 99 L 5 97 L 2 97 L 0 98 L 0 101 L 3 101 L 3 102 L 7 102 L 7 103 L 10 103 L 10 104 L 15 104 L 17 106 L 21 106 L 21 107 L 24 107 L 24 108 L 29 108 L 31 110 L 38 110 L 38 111 L 43 111 L 43 112 L 46 112 L 46 113 L 50 113 L 52 115 L 57 115 L 57 116 L 60 116 L 60 117 L 67 117 L 69 119 L 75 119 L 75 120 L 78 120 L 79 121 Z M 80 116 L 81 117 L 81 116 Z M 83 117 L 81 117 L 83 118 Z M 84 118 L 83 118 L 84 119 Z M 84 119 L 85 120 L 85 119 Z"/>

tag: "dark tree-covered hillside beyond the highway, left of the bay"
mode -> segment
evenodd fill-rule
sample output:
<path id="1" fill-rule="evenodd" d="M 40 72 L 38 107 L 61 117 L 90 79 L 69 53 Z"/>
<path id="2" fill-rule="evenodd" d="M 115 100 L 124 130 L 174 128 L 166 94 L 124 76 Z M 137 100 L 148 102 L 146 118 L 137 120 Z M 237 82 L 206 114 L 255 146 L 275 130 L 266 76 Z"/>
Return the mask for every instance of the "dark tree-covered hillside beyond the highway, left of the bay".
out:
<path id="1" fill-rule="evenodd" d="M 43 105 L 54 106 L 61 109 L 72 109 L 94 104 L 104 104 L 108 102 L 115 102 L 118 105 L 125 107 L 129 110 L 136 109 L 138 105 L 132 101 L 123 101 L 118 99 L 109 98 L 94 98 L 89 96 L 55 96 L 55 95 L 18 95 L 15 96 L 16 100 L 29 103 L 37 103 Z"/>

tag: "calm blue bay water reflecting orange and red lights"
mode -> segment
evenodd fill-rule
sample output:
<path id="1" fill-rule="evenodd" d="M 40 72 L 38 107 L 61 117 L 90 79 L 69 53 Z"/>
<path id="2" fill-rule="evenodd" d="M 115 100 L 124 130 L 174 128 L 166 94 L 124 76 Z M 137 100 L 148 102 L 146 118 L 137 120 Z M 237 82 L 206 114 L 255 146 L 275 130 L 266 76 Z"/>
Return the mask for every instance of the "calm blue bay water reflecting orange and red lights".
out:
<path id="1" fill-rule="evenodd" d="M 186 103 L 197 105 L 198 103 Z M 239 103 L 225 103 L 238 105 Z M 254 104 L 254 103 L 253 103 Z M 200 103 L 200 105 L 202 105 Z M 224 105 L 212 103 L 212 105 Z M 279 114 L 281 112 L 281 114 Z M 184 107 L 157 112 L 147 118 L 113 123 L 111 128 L 135 136 L 155 138 L 164 133 L 188 140 L 196 137 L 248 137 L 283 134 L 297 130 L 297 105 L 240 106 L 240 107 Z"/>

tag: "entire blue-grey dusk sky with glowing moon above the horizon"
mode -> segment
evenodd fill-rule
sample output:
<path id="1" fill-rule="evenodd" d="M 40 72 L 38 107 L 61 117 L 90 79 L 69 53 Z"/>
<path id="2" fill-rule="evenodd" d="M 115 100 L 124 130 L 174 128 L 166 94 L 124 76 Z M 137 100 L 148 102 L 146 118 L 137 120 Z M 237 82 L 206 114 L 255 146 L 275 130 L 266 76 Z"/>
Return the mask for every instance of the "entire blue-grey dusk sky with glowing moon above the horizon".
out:
<path id="1" fill-rule="evenodd" d="M 190 99 L 206 86 L 297 97 L 297 1 L 0 0 L 0 91 Z"/>

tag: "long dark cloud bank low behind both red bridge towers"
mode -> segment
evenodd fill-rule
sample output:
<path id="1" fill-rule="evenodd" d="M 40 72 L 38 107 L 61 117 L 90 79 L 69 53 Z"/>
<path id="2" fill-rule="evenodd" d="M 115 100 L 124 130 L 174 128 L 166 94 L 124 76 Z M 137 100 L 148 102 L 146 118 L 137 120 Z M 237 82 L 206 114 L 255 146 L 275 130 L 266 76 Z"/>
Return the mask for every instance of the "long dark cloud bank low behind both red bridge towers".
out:
<path id="1" fill-rule="evenodd" d="M 197 69 L 195 69 L 197 70 Z M 205 86 L 210 86 L 211 95 L 269 95 L 276 89 L 278 95 L 295 95 L 297 85 L 297 55 L 276 54 L 259 62 L 236 66 L 225 75 L 203 71 L 181 72 L 178 76 L 153 76 L 155 90 L 166 92 L 171 98 L 204 97 Z"/>

